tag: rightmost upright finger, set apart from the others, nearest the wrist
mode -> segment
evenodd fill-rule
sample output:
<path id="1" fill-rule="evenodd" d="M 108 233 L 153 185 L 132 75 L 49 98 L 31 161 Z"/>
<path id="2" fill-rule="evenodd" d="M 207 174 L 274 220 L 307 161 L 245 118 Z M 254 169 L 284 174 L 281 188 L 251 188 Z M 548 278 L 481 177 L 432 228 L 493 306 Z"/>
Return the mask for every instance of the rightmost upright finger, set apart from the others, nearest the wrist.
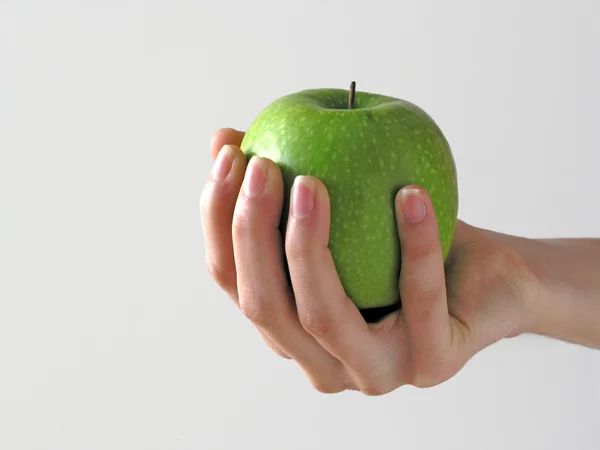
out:
<path id="1" fill-rule="evenodd" d="M 399 325 L 406 328 L 418 378 L 428 379 L 439 375 L 451 342 L 438 224 L 431 198 L 416 186 L 398 193 L 396 217 L 402 249 Z"/>

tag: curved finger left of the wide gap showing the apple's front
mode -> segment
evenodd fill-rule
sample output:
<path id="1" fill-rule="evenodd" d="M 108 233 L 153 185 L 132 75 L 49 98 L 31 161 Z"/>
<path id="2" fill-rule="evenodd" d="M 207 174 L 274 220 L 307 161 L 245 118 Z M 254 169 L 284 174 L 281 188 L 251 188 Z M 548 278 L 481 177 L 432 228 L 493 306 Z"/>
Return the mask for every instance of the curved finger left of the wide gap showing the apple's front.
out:
<path id="1" fill-rule="evenodd" d="M 395 358 L 379 345 L 342 287 L 328 248 L 327 190 L 315 178 L 298 177 L 291 195 L 285 248 L 300 322 L 348 367 L 363 392 L 385 390 L 395 382 L 390 364 Z"/>

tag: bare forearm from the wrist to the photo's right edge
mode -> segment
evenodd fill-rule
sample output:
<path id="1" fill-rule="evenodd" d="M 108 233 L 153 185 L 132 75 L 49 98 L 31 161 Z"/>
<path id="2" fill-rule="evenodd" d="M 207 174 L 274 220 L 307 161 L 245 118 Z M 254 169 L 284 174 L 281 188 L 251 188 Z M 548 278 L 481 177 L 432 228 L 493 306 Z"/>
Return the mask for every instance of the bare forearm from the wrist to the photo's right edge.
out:
<path id="1" fill-rule="evenodd" d="M 535 275 L 527 332 L 600 348 L 600 239 L 511 239 Z"/>

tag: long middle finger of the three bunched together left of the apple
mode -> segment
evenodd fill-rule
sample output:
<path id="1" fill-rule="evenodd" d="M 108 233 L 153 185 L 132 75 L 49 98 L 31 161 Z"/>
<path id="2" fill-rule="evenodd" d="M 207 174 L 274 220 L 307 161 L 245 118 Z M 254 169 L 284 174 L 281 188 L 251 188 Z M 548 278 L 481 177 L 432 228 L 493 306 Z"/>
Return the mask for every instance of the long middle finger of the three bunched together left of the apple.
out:
<path id="1" fill-rule="evenodd" d="M 293 305 L 279 230 L 282 206 L 279 168 L 268 159 L 252 158 L 233 219 L 240 308 L 302 366 L 315 387 L 337 392 L 347 385 L 341 363 L 302 328 Z"/>

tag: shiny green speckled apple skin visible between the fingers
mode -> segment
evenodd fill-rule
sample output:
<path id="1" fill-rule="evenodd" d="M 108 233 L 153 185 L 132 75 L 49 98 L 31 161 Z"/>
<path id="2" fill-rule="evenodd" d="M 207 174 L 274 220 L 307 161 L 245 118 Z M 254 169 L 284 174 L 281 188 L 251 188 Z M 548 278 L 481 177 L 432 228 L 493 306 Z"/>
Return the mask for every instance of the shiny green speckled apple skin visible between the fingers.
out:
<path id="1" fill-rule="evenodd" d="M 361 310 L 399 304 L 401 248 L 394 198 L 416 184 L 431 196 L 444 259 L 458 213 L 454 157 L 442 131 L 418 106 L 396 98 L 310 89 L 279 98 L 248 128 L 241 149 L 274 161 L 284 181 L 281 231 L 298 175 L 329 192 L 329 249 L 347 295 Z"/>

